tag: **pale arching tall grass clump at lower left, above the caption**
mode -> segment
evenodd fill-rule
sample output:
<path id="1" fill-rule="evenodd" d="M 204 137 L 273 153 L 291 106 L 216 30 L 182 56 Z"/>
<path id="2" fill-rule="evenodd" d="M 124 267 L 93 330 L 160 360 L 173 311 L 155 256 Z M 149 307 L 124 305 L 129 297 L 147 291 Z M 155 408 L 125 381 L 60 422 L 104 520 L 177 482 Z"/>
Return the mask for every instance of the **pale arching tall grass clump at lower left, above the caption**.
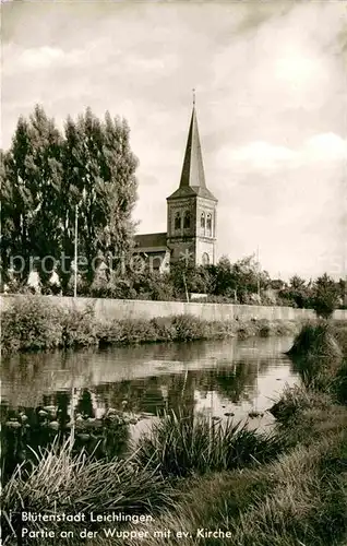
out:
<path id="1" fill-rule="evenodd" d="M 36 453 L 36 464 L 31 471 L 19 465 L 2 491 L 2 536 L 4 543 L 21 526 L 21 511 L 37 513 L 86 514 L 84 523 L 64 523 L 67 530 L 95 529 L 88 521 L 94 512 L 143 514 L 157 507 L 172 506 L 172 489 L 160 474 L 146 465 L 136 464 L 133 459 L 110 462 L 96 461 L 81 452 L 73 455 L 71 443 L 62 448 Z M 12 513 L 12 518 L 10 514 Z M 105 524 L 104 524 L 105 525 Z M 26 524 L 31 530 L 43 526 L 39 522 Z M 50 522 L 52 531 L 61 522 Z M 36 544 L 32 541 L 32 544 Z"/>

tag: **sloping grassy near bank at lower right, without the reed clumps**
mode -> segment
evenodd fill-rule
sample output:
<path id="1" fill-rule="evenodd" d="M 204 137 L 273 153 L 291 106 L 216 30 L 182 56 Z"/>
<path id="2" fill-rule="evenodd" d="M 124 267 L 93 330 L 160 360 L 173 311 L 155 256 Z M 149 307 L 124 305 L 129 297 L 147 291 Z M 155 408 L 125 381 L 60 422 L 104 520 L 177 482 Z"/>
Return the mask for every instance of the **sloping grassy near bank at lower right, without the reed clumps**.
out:
<path id="1" fill-rule="evenodd" d="M 163 538 L 155 537 L 154 530 L 166 529 L 171 531 L 165 541 L 170 546 L 346 546 L 347 327 L 328 325 L 325 330 L 328 337 L 339 341 L 343 359 L 332 359 L 326 353 L 325 343 L 331 340 L 322 337 L 321 328 L 316 327 L 314 367 L 309 359 L 304 369 L 301 359 L 302 385 L 287 389 L 273 407 L 276 455 L 268 453 L 267 444 L 263 448 L 267 459 L 255 455 L 251 466 L 195 473 L 184 480 L 175 508 L 165 509 L 155 523 L 143 527 L 148 538 L 133 539 L 132 545 L 159 546 Z M 324 380 L 314 381 L 316 375 Z M 157 454 L 163 446 L 167 449 L 168 438 L 168 434 L 161 438 Z M 157 455 L 155 461 L 159 462 Z M 216 536 L 202 537 L 198 534 L 202 529 L 217 531 Z M 179 530 L 188 536 L 177 538 Z M 223 537 L 219 531 L 230 534 Z M 89 543 L 121 544 L 121 539 L 105 538 Z"/>

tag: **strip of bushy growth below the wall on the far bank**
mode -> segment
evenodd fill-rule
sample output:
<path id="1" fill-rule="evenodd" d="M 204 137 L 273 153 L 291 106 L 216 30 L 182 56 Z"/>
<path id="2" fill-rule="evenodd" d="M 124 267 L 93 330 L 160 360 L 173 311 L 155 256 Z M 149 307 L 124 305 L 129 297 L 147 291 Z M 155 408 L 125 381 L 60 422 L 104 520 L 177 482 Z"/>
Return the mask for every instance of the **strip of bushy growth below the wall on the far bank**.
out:
<path id="1" fill-rule="evenodd" d="M 70 347 L 101 347 L 134 343 L 186 342 L 232 336 L 295 333 L 292 321 L 206 321 L 190 314 L 151 320 L 113 320 L 101 323 L 93 310 L 84 312 L 47 306 L 39 298 L 17 300 L 1 316 L 1 347 L 4 353 L 52 351 Z"/>

